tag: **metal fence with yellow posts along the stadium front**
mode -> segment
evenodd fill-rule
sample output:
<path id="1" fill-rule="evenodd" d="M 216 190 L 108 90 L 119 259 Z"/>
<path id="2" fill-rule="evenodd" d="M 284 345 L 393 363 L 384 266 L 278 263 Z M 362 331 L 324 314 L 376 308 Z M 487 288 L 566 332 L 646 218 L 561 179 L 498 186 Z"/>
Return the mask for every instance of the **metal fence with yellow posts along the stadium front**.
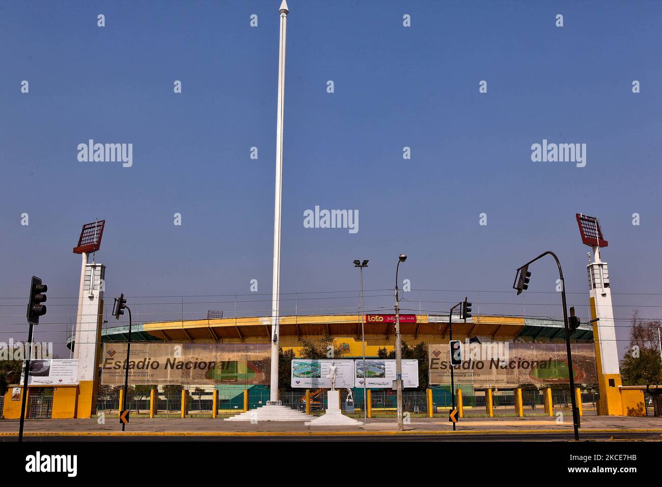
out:
<path id="1" fill-rule="evenodd" d="M 489 390 L 471 390 L 470 388 L 458 388 L 456 394 L 461 394 L 461 407 L 458 398 L 455 399 L 455 407 L 460 409 L 463 417 L 518 417 L 522 416 L 549 416 L 558 413 L 571 414 L 572 396 L 569 390 L 563 389 L 521 389 L 521 390 L 499 390 L 489 393 Z M 364 414 L 365 398 L 363 389 L 355 388 L 352 391 L 354 403 L 348 404 L 348 390 L 340 389 L 340 409 L 344 415 L 360 419 Z M 170 390 L 167 393 L 154 392 L 154 417 L 229 417 L 248 409 L 256 409 L 265 406 L 269 400 L 269 390 L 264 388 L 248 389 L 248 404 L 244 402 L 244 389 L 221 389 L 216 391 L 216 414 L 214 415 L 214 392 L 209 390 L 187 390 L 184 397 L 186 402 L 182 410 L 182 391 Z M 594 390 L 584 390 L 581 394 L 575 392 L 577 398 L 581 397 L 581 412 L 584 416 L 597 415 L 598 393 Z M 492 397 L 492 407 L 489 407 L 488 398 Z M 152 407 L 152 394 L 149 391 L 128 391 L 126 407 L 130 409 L 131 415 L 136 417 L 149 417 Z M 34 417 L 46 417 L 50 415 L 48 399 L 50 397 L 50 408 L 52 409 L 52 396 L 30 396 L 30 404 L 34 401 L 34 412 L 39 415 Z M 391 418 L 397 415 L 397 392 L 395 390 L 369 390 L 371 404 L 367 408 L 367 414 L 374 418 Z M 119 414 L 120 390 L 98 393 L 95 398 L 97 415 Z M 521 398 L 521 400 L 520 400 Z M 0 397 L 0 400 L 3 399 Z M 279 400 L 283 406 L 291 407 L 298 411 L 307 410 L 307 391 L 303 389 L 280 390 Z M 311 415 L 322 415 L 328 409 L 328 390 L 318 389 L 308 392 L 309 407 Z M 42 405 L 43 406 L 37 406 Z M 521 404 L 520 404 L 521 403 Z M 648 413 L 653 414 L 653 407 L 649 405 L 646 397 Z M 0 402 L 0 413 L 2 403 Z M 430 407 L 431 406 L 431 407 Z M 549 407 L 551 406 L 551 414 Z M 30 406 L 32 407 L 32 406 Z M 403 390 L 402 411 L 406 417 L 447 417 L 451 409 L 451 393 L 448 388 L 432 388 L 429 390 Z M 50 416 L 49 416 L 50 417 Z"/>

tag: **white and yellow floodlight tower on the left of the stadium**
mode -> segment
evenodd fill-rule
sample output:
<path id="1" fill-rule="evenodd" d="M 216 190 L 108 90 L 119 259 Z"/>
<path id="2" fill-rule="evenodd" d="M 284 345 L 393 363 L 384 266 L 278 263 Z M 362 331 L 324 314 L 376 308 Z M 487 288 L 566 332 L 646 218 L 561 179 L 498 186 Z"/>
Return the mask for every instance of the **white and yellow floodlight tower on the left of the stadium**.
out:
<path id="1" fill-rule="evenodd" d="M 78 360 L 79 398 L 77 417 L 91 417 L 97 386 L 99 367 L 99 343 L 103 321 L 103 290 L 106 266 L 87 262 L 89 254 L 101 248 L 101 237 L 106 221 L 85 223 L 81 229 L 74 254 L 81 254 L 81 280 L 78 292 L 78 314 L 76 317 L 73 358 Z"/>

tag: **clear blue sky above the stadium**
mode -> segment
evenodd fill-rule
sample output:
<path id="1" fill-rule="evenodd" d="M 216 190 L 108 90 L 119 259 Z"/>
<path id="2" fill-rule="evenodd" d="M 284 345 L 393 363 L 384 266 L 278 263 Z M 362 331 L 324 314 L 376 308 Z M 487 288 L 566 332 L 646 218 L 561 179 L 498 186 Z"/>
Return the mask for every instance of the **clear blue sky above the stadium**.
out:
<path id="1" fill-rule="evenodd" d="M 49 305 L 77 295 L 71 248 L 95 218 L 107 221 L 96 256 L 107 266 L 107 301 L 120 292 L 250 294 L 257 279 L 269 309 L 279 4 L 0 3 L 0 296 L 20 298 L 3 300 L 1 341 L 24 339 L 25 327 L 10 325 L 24 321 L 32 274 L 48 283 Z M 290 0 L 289 8 L 283 292 L 356 290 L 354 258 L 371 261 L 365 288 L 392 288 L 405 252 L 408 299 L 458 290 L 427 296 L 459 301 L 467 290 L 482 313 L 559 315 L 559 306 L 536 307 L 559 300 L 551 260 L 532 268 L 530 286 L 551 294 L 510 292 L 514 269 L 551 249 L 586 317 L 589 248 L 575 222 L 583 212 L 600 217 L 610 243 L 603 258 L 617 317 L 635 308 L 662 317 L 662 3 Z M 402 26 L 404 14 L 412 27 Z M 183 93 L 173 93 L 175 80 Z M 77 144 L 90 138 L 132 143 L 133 166 L 79 162 Z M 532 162 L 531 145 L 544 138 L 587 144 L 586 167 Z M 359 232 L 305 229 L 303 211 L 315 205 L 358 210 Z M 488 304 L 499 299 L 512 304 Z M 227 303 L 200 307 L 232 312 Z M 60 323 L 75 321 L 75 307 L 55 310 L 37 339 L 53 339 L 52 323 L 64 341 Z M 167 317 L 179 316 L 149 318 Z"/>

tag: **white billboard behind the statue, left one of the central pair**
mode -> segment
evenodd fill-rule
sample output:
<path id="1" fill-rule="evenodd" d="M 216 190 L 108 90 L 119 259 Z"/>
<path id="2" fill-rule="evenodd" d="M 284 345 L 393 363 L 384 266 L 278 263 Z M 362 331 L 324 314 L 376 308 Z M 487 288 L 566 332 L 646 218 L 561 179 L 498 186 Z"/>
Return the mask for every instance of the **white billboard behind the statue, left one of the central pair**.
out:
<path id="1" fill-rule="evenodd" d="M 331 388 L 327 378 L 331 364 L 336 366 L 336 389 L 354 387 L 354 360 L 312 360 L 294 358 L 292 360 L 291 386 L 294 388 Z"/>

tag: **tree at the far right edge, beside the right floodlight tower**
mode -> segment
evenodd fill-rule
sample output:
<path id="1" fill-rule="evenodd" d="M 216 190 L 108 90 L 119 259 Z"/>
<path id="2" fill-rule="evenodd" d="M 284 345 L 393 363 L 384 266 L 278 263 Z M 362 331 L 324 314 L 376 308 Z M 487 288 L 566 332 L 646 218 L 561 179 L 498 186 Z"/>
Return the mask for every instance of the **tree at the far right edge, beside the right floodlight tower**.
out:
<path id="1" fill-rule="evenodd" d="M 645 321 L 639 313 L 632 315 L 630 349 L 620 362 L 621 377 L 628 386 L 646 386 L 653 398 L 653 413 L 662 415 L 662 360 L 658 340 L 659 321 Z M 653 387 L 651 387 L 653 386 Z"/>

